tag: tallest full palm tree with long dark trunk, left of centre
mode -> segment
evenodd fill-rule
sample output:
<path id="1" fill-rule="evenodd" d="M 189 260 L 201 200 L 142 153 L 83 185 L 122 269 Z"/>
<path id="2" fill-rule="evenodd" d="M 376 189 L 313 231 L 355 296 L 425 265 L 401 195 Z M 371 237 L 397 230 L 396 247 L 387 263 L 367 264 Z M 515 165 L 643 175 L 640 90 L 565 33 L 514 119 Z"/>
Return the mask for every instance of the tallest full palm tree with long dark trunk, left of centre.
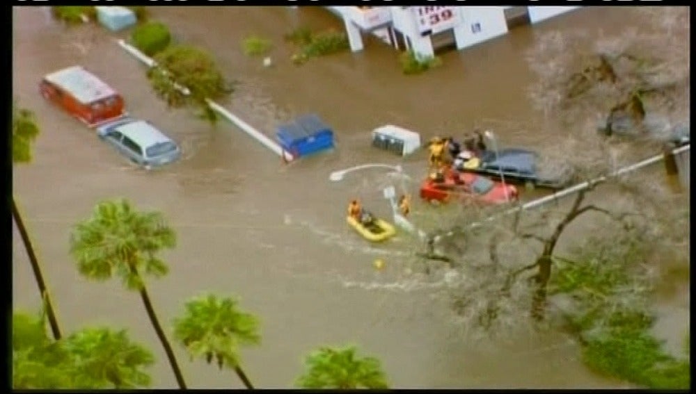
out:
<path id="1" fill-rule="evenodd" d="M 97 204 L 92 217 L 77 224 L 70 238 L 70 252 L 80 274 L 95 281 L 118 275 L 128 290 L 140 294 L 152 327 L 164 347 L 180 388 L 186 388 L 179 364 L 145 287 L 143 275 L 163 277 L 168 272 L 156 257 L 175 246 L 173 229 L 158 212 L 139 213 L 125 199 Z"/>

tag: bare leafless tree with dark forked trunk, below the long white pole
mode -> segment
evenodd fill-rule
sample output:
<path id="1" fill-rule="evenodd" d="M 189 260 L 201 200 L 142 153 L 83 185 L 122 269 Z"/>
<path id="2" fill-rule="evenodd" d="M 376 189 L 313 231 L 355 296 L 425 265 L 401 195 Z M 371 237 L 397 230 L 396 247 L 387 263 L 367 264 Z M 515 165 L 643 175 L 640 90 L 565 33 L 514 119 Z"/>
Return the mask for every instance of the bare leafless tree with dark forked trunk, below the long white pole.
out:
<path id="1" fill-rule="evenodd" d="M 685 227 L 675 229 L 675 220 L 683 222 L 686 215 L 674 212 L 679 205 L 664 197 L 665 190 L 640 183 L 612 179 L 533 211 L 441 231 L 438 245 L 464 244 L 440 252 L 452 262 L 445 291 L 461 327 L 472 336 L 536 327 L 547 310 L 548 286 L 558 261 L 569 247 L 584 245 L 590 236 L 617 240 L 616 253 L 626 248 L 619 239 L 639 233 L 654 243 L 655 251 L 674 250 L 688 236 Z M 687 203 L 677 203 L 688 209 Z M 688 253 L 686 245 L 679 246 L 679 252 Z"/>

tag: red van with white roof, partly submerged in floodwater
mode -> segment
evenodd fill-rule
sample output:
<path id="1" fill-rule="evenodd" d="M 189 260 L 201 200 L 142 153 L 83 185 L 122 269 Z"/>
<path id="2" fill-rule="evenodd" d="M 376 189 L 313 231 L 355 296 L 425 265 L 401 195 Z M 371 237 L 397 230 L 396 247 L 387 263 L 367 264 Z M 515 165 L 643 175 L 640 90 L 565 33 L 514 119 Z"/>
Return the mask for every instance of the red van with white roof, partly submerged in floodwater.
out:
<path id="1" fill-rule="evenodd" d="M 45 99 L 56 102 L 90 127 L 125 115 L 121 95 L 80 66 L 48 74 L 39 90 Z"/>

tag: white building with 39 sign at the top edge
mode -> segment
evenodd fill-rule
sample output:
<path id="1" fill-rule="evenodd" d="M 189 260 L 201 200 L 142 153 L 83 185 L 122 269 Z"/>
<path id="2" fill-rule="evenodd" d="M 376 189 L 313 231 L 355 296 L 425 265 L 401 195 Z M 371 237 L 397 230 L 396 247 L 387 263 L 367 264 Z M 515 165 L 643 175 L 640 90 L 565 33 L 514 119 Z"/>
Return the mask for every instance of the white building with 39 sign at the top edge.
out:
<path id="1" fill-rule="evenodd" d="M 363 33 L 377 35 L 416 56 L 434 56 L 452 46 L 464 49 L 507 33 L 518 24 L 535 24 L 578 6 L 420 6 L 326 7 L 341 17 L 353 51 L 363 50 Z"/>

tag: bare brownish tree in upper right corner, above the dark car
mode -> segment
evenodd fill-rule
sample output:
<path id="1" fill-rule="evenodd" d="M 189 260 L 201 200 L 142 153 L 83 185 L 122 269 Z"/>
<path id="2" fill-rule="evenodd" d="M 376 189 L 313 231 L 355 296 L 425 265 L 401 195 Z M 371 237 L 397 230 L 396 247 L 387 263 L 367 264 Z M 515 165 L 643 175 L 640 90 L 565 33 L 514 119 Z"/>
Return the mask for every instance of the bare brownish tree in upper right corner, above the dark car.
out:
<path id="1" fill-rule="evenodd" d="M 624 118 L 637 125 L 651 114 L 688 119 L 688 9 L 627 12 L 644 22 L 640 30 L 593 39 L 585 31 L 539 37 L 528 56 L 539 76 L 530 96 L 547 117 L 561 112 L 564 124 L 588 115 L 598 121 Z M 642 125 L 651 138 L 664 138 L 665 127 L 654 119 L 651 123 Z"/>

